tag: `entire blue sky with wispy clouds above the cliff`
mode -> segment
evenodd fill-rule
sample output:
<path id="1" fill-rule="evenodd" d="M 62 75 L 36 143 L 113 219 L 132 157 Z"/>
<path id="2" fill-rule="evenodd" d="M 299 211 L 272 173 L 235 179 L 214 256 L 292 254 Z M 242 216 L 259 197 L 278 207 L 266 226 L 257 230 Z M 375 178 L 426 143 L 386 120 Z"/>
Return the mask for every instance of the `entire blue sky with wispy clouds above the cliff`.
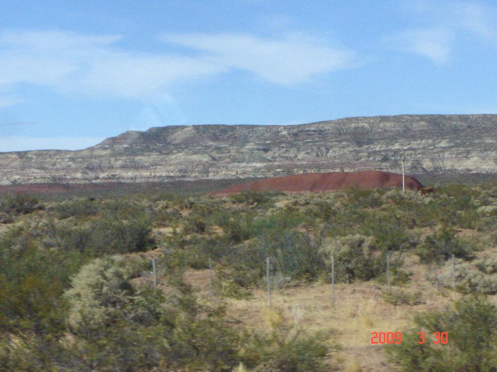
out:
<path id="1" fill-rule="evenodd" d="M 495 1 L 0 4 L 0 151 L 160 125 L 497 113 Z"/>

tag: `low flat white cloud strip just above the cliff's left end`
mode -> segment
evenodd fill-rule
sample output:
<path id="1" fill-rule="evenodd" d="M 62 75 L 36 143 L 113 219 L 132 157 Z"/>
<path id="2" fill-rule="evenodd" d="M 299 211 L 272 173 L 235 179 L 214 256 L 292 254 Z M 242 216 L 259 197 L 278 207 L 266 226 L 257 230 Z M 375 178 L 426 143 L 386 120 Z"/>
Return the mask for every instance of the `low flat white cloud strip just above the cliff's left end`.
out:
<path id="1" fill-rule="evenodd" d="M 0 152 L 26 150 L 81 150 L 103 141 L 101 137 L 0 136 Z"/>

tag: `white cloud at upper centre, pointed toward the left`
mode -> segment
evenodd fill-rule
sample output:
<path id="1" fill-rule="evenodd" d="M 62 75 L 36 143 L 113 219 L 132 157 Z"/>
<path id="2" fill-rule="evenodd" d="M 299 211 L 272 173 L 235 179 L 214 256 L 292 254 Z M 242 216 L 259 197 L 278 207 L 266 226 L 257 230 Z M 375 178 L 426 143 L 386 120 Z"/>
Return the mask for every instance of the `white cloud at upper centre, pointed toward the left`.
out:
<path id="1" fill-rule="evenodd" d="M 355 65 L 351 51 L 297 34 L 275 39 L 251 34 L 189 33 L 165 35 L 163 40 L 203 52 L 204 61 L 251 71 L 282 85 L 307 82 L 314 75 Z"/>

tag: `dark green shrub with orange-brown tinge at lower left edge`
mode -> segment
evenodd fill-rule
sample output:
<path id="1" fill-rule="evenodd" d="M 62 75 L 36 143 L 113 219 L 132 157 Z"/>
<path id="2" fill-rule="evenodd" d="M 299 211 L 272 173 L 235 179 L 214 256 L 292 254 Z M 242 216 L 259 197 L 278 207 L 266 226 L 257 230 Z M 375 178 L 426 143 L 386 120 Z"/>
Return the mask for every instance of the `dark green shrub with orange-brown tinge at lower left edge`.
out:
<path id="1" fill-rule="evenodd" d="M 0 261 L 0 370 L 53 371 L 64 355 L 62 295 L 82 257 L 45 249 L 22 226 L 0 237 Z"/>

